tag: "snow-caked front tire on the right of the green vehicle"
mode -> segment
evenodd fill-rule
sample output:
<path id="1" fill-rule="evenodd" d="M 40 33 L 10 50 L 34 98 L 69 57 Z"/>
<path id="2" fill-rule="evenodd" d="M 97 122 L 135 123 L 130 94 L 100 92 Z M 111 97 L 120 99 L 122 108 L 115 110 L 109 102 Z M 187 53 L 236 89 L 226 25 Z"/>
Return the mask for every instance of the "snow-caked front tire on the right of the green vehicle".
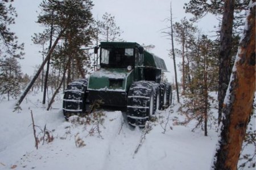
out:
<path id="1" fill-rule="evenodd" d="M 158 99 L 158 100 L 157 100 Z M 127 97 L 127 122 L 131 126 L 144 127 L 155 114 L 160 103 L 159 84 L 139 81 L 131 84 Z"/>

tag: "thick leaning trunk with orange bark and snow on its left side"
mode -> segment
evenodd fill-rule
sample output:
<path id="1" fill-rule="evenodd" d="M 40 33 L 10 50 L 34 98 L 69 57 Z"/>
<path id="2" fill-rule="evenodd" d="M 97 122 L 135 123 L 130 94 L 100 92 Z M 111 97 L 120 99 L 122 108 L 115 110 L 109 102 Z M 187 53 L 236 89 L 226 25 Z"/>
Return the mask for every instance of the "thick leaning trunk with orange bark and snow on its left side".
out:
<path id="1" fill-rule="evenodd" d="M 220 139 L 212 164 L 216 170 L 237 169 L 252 111 L 255 93 L 255 3 L 252 2 L 222 109 Z"/>

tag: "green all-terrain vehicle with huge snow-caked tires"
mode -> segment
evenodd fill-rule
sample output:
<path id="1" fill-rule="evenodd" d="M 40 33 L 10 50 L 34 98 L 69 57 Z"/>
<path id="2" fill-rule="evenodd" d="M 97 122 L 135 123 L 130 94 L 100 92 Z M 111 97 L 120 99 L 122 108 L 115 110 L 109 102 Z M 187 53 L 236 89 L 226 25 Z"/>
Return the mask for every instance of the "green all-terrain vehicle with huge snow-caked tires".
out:
<path id="1" fill-rule="evenodd" d="M 100 65 L 89 79 L 69 83 L 63 99 L 65 118 L 84 114 L 88 105 L 102 100 L 102 106 L 126 109 L 130 125 L 144 126 L 171 104 L 171 84 L 161 82 L 167 71 L 162 58 L 148 53 L 136 42 L 101 42 Z"/>

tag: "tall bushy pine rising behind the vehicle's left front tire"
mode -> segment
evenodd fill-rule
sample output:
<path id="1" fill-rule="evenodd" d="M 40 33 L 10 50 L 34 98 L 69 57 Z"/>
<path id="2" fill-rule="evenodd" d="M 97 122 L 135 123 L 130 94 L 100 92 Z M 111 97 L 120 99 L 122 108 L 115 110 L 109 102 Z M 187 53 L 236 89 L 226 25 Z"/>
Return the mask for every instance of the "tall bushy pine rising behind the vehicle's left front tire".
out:
<path id="1" fill-rule="evenodd" d="M 66 27 L 63 35 L 64 50 L 63 57 L 71 58 L 71 66 L 68 67 L 68 74 L 75 77 L 75 70 L 79 71 L 82 77 L 85 77 L 82 62 L 88 59 L 88 54 L 81 50 L 82 46 L 91 44 L 90 40 L 94 36 L 93 18 L 90 10 L 92 1 L 43 1 L 40 5 L 42 14 L 38 16 L 38 23 L 50 26 L 55 29 Z M 67 62 L 68 59 L 65 59 Z M 67 82 L 71 80 L 68 79 Z"/>

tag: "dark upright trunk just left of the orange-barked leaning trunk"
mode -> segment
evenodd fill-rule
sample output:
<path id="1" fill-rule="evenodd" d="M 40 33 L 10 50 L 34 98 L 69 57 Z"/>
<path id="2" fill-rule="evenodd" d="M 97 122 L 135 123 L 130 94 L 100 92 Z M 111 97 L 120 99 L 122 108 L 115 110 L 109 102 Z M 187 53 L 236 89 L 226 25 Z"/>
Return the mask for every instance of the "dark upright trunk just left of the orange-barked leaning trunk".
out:
<path id="1" fill-rule="evenodd" d="M 230 61 L 232 49 L 232 28 L 234 18 L 234 0 L 226 0 L 220 32 L 220 56 L 218 77 L 218 124 L 221 121 L 221 110 L 230 78 Z"/>

